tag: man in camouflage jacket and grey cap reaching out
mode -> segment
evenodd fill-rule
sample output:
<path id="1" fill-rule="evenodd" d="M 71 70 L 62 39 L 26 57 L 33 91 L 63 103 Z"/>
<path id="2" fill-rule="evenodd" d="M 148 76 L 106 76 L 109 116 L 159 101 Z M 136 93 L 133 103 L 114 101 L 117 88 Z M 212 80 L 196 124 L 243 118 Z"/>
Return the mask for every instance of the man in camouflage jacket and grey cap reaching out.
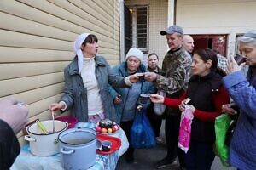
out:
<path id="1" fill-rule="evenodd" d="M 145 80 L 154 82 L 156 88 L 166 92 L 167 97 L 179 98 L 188 87 L 192 59 L 183 48 L 183 29 L 180 26 L 170 26 L 166 31 L 160 31 L 160 34 L 166 35 L 170 48 L 163 60 L 163 75 L 148 72 L 145 74 Z M 172 166 L 177 163 L 177 156 L 180 167 L 184 167 L 183 151 L 177 148 L 180 116 L 179 110 L 166 108 L 167 156 L 158 162 L 157 168 Z"/>

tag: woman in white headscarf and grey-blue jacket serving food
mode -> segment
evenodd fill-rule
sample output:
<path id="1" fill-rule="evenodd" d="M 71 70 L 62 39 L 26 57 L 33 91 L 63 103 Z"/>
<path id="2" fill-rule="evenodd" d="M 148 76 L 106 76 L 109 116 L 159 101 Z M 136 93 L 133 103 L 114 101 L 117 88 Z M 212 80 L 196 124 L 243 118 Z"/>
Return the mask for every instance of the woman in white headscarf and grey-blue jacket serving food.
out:
<path id="1" fill-rule="evenodd" d="M 64 71 L 65 90 L 58 103 L 49 105 L 50 111 L 71 110 L 79 122 L 99 122 L 108 118 L 117 121 L 113 102 L 108 94 L 108 83 L 117 88 L 128 88 L 137 82 L 137 75 L 120 77 L 106 59 L 97 55 L 98 39 L 83 33 L 74 42 L 76 56 Z"/>

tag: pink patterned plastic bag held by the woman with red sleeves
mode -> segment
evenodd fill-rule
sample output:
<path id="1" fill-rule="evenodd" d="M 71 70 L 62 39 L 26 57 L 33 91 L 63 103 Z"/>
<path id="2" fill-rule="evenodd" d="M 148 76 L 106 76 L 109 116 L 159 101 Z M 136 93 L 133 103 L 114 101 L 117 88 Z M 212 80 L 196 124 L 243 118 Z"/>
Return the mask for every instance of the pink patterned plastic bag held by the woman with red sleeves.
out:
<path id="1" fill-rule="evenodd" d="M 194 118 L 193 112 L 189 105 L 186 105 L 185 111 L 182 112 L 179 135 L 178 135 L 178 147 L 184 150 L 185 153 L 189 150 L 191 124 Z"/>

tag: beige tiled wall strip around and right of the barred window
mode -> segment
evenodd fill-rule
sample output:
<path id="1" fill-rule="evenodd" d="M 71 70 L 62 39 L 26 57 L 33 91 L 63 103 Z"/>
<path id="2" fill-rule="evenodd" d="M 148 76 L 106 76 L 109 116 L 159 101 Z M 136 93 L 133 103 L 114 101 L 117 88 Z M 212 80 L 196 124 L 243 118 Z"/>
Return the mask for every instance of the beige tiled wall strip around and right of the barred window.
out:
<path id="1" fill-rule="evenodd" d="M 160 36 L 160 31 L 166 30 L 167 27 L 167 3 L 166 0 L 125 0 L 126 6 L 148 5 L 148 54 L 158 54 L 160 57 L 160 64 L 168 49 L 166 37 Z M 145 56 L 144 59 L 147 60 L 147 56 Z"/>

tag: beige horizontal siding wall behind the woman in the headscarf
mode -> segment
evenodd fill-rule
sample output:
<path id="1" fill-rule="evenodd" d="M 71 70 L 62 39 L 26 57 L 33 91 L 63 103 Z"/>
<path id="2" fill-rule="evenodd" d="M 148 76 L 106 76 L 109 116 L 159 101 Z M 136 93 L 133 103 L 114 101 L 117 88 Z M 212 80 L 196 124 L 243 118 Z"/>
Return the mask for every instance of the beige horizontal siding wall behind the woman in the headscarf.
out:
<path id="1" fill-rule="evenodd" d="M 30 121 L 50 118 L 80 33 L 95 34 L 99 54 L 119 62 L 118 0 L 1 0 L 0 23 L 0 98 L 24 101 Z"/>

